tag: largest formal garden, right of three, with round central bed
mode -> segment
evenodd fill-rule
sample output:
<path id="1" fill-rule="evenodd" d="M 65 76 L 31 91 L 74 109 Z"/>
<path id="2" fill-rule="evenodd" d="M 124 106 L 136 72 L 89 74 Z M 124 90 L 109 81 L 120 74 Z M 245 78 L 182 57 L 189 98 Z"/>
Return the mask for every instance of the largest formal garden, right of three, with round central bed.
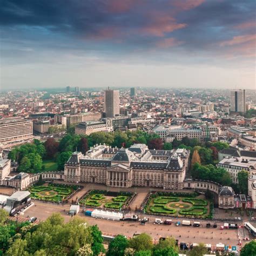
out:
<path id="1" fill-rule="evenodd" d="M 200 197 L 198 193 L 152 193 L 144 204 L 144 212 L 211 219 L 213 204 L 211 201 Z"/>

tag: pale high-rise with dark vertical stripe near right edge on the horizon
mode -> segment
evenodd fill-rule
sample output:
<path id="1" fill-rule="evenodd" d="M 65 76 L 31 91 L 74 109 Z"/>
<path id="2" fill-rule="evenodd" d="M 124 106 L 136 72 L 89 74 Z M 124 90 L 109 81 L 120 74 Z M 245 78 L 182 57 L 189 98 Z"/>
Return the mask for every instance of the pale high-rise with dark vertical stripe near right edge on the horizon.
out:
<path id="1" fill-rule="evenodd" d="M 246 111 L 245 90 L 241 90 L 241 89 L 231 90 L 230 111 L 231 112 Z"/>

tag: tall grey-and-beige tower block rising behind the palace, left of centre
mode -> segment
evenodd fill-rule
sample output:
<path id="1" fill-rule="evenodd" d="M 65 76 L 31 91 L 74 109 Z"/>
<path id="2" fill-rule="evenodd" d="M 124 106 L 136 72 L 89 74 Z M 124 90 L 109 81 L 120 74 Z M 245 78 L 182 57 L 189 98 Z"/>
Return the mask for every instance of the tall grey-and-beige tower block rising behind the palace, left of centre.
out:
<path id="1" fill-rule="evenodd" d="M 106 118 L 118 116 L 120 112 L 119 91 L 110 89 L 105 90 L 104 105 Z"/>

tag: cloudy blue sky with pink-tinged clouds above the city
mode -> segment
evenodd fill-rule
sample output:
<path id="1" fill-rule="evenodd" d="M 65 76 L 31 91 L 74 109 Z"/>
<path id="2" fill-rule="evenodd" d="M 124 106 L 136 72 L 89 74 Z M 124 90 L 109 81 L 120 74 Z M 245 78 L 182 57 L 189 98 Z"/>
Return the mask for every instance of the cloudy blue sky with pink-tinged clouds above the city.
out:
<path id="1" fill-rule="evenodd" d="M 2 0 L 0 89 L 256 89 L 255 0 Z"/>

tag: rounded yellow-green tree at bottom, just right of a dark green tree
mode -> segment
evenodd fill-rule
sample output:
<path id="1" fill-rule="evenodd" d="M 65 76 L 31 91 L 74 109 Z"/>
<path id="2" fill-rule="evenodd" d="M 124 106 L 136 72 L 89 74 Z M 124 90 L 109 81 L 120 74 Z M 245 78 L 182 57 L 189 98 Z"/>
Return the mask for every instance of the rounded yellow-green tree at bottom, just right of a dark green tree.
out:
<path id="1" fill-rule="evenodd" d="M 151 250 L 153 247 L 152 238 L 146 233 L 139 234 L 129 241 L 129 247 L 135 251 Z"/>

